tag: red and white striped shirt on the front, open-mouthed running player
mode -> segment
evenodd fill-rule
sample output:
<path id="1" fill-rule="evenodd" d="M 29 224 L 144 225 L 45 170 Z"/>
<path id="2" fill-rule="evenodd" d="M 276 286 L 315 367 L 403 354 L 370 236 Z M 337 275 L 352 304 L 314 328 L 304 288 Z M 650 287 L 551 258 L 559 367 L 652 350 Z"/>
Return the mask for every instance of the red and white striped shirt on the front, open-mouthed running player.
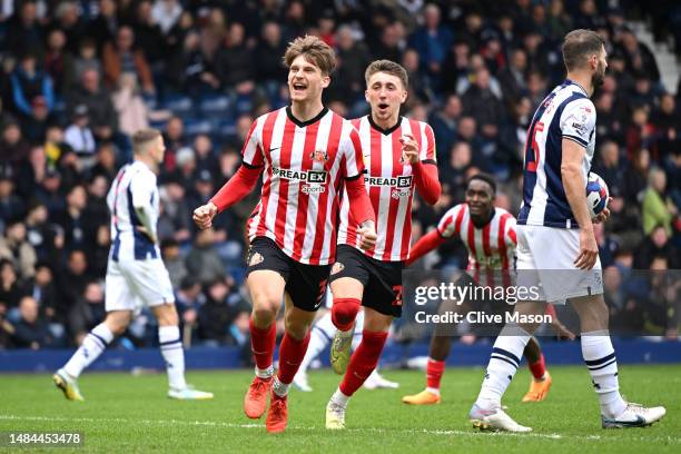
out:
<path id="1" fill-rule="evenodd" d="M 300 122 L 290 108 L 282 108 L 254 121 L 243 155 L 246 166 L 265 166 L 248 238 L 269 237 L 302 264 L 332 261 L 340 179 L 364 170 L 359 136 L 351 122 L 327 108 Z"/>

